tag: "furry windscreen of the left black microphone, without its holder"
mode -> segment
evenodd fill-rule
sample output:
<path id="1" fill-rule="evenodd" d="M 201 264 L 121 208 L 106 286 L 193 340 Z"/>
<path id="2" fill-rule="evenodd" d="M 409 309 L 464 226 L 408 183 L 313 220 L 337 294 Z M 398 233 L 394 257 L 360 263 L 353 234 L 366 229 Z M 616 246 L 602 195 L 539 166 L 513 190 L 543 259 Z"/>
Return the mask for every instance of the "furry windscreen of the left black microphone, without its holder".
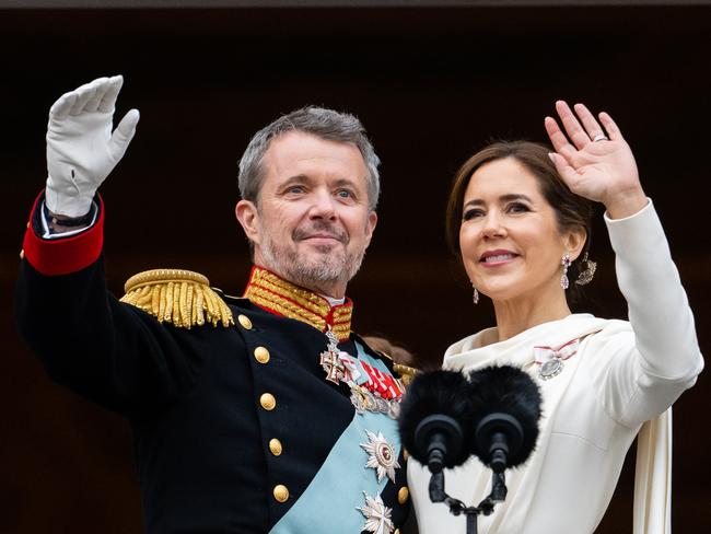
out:
<path id="1" fill-rule="evenodd" d="M 453 418 L 466 433 L 471 427 L 471 402 L 467 395 L 466 376 L 455 371 L 432 371 L 418 374 L 403 398 L 398 418 L 403 446 L 422 465 L 428 464 L 427 450 L 418 446 L 415 434 L 418 425 L 428 416 L 444 415 Z M 461 446 L 448 454 L 444 467 L 463 464 L 470 455 L 469 448 Z"/>

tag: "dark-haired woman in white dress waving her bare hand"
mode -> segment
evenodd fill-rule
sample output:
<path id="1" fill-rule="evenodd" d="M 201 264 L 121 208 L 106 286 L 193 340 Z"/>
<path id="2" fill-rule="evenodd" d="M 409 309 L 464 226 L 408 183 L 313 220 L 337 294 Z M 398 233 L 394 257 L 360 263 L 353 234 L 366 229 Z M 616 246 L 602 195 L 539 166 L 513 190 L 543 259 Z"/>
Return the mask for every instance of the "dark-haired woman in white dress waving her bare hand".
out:
<path id="1" fill-rule="evenodd" d="M 444 368 L 518 365 L 543 396 L 536 449 L 506 475 L 506 500 L 479 519 L 479 532 L 594 532 L 638 437 L 634 533 L 668 533 L 671 406 L 703 367 L 693 316 L 619 129 L 581 104 L 575 113 L 564 102 L 556 108 L 567 136 L 546 117 L 552 152 L 493 143 L 462 166 L 450 196 L 448 239 L 474 302 L 492 300 L 497 326 L 452 345 Z M 595 274 L 592 201 L 606 208 L 629 322 L 569 307 L 571 291 Z M 409 462 L 409 476 L 420 532 L 465 532 L 462 518 L 430 502 L 427 468 Z M 475 506 L 490 480 L 469 460 L 446 473 L 446 489 Z"/>

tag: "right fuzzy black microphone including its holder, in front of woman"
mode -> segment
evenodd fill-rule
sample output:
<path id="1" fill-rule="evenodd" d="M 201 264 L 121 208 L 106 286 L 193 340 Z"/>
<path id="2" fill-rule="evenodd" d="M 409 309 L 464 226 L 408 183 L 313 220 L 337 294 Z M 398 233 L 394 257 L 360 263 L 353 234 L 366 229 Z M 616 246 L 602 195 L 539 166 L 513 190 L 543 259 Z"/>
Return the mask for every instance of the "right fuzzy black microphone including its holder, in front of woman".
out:
<path id="1" fill-rule="evenodd" d="M 511 365 L 489 367 L 471 372 L 466 388 L 469 452 L 497 474 L 523 464 L 538 439 L 541 397 L 533 379 Z"/>

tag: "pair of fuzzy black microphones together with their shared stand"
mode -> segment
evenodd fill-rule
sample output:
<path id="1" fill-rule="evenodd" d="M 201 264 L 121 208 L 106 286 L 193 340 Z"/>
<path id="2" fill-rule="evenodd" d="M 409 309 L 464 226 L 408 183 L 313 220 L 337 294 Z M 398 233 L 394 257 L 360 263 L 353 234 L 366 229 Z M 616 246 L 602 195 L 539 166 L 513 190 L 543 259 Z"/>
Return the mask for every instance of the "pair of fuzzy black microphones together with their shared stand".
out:
<path id="1" fill-rule="evenodd" d="M 489 515 L 506 497 L 504 471 L 526 461 L 538 438 L 540 392 L 528 374 L 510 365 L 469 374 L 457 371 L 421 373 L 410 383 L 400 405 L 403 446 L 430 473 L 430 500 L 444 502 L 454 515 Z M 491 494 L 477 507 L 466 507 L 444 490 L 442 469 L 476 455 L 493 472 Z"/>

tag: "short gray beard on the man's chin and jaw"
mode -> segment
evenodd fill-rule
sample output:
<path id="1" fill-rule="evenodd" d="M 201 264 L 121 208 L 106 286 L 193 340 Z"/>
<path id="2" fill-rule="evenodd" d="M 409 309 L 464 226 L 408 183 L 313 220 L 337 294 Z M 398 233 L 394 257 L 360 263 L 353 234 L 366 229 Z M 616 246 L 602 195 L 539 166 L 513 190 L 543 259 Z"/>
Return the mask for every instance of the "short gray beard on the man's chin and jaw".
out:
<path id="1" fill-rule="evenodd" d="M 363 263 L 365 249 L 356 253 L 328 253 L 324 251 L 323 259 L 305 263 L 292 248 L 279 248 L 267 236 L 261 244 L 261 256 L 267 269 L 285 278 L 288 281 L 308 289 L 319 289 L 337 282 L 348 282 L 356 276 Z"/>

